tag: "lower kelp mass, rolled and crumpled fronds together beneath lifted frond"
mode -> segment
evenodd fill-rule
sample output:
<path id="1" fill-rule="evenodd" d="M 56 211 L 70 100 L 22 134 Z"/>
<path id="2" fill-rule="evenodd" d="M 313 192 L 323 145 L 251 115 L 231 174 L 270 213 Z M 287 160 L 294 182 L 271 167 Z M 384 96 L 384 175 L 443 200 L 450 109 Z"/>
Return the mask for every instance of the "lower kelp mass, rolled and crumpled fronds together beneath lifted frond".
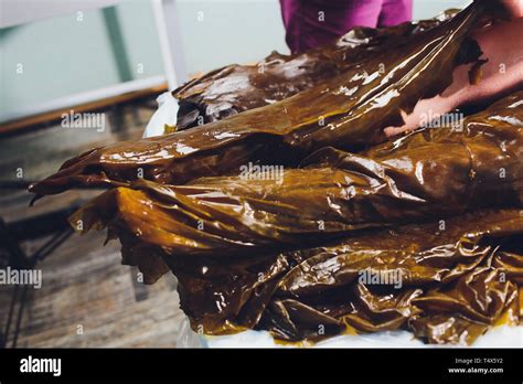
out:
<path id="1" fill-rule="evenodd" d="M 523 93 L 280 181 L 111 189 L 73 217 L 108 226 L 153 282 L 171 269 L 192 327 L 287 341 L 408 329 L 471 343 L 516 323 L 523 273 Z"/>

